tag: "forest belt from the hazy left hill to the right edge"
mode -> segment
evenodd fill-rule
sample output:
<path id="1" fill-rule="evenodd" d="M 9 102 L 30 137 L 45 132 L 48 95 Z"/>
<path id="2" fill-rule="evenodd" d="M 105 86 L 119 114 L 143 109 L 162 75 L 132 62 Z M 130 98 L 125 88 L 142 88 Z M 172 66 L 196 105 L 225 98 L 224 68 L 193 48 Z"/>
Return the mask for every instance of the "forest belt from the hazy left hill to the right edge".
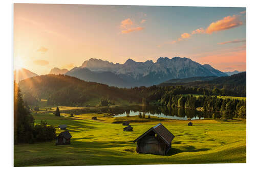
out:
<path id="1" fill-rule="evenodd" d="M 196 85 L 193 86 L 193 83 Z M 211 85 L 212 83 L 212 85 Z M 216 78 L 213 82 L 191 82 L 184 85 L 117 88 L 86 82 L 65 75 L 44 75 L 19 82 L 24 99 L 34 105 L 40 99 L 47 99 L 48 105 L 87 106 L 92 99 L 101 99 L 99 106 L 114 105 L 115 101 L 129 103 L 203 108 L 214 111 L 212 117 L 246 117 L 246 101 L 222 99 L 217 96 L 246 96 L 246 72 L 230 77 Z M 200 94 L 196 97 L 192 94 Z"/>

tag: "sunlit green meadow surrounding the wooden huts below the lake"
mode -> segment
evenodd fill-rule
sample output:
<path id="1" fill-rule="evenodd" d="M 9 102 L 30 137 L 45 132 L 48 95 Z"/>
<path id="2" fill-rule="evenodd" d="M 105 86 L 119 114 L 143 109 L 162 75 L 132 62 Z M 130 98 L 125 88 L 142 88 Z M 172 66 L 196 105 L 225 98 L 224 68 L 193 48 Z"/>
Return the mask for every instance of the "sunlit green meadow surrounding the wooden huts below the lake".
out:
<path id="1" fill-rule="evenodd" d="M 114 118 L 108 113 L 61 115 L 33 113 L 35 123 L 47 120 L 55 127 L 67 124 L 73 136 L 71 144 L 55 146 L 52 141 L 14 145 L 14 166 L 246 162 L 245 120 L 192 120 L 193 126 L 189 127 L 186 120 L 153 116 L 141 122 L 138 116 Z M 90 119 L 94 115 L 98 120 Z M 122 124 L 113 124 L 126 118 L 133 122 L 133 132 L 123 132 Z M 159 122 L 175 135 L 168 155 L 137 154 L 133 140 Z M 57 130 L 57 134 L 60 132 Z"/>

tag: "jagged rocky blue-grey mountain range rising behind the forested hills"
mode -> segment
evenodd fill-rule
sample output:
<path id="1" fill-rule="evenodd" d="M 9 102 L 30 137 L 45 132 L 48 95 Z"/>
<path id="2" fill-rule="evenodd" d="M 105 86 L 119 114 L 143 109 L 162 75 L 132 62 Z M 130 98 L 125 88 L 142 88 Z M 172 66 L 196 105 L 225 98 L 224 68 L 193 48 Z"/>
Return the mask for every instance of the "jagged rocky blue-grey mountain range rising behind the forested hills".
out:
<path id="1" fill-rule="evenodd" d="M 228 76 L 208 64 L 181 57 L 160 57 L 156 62 L 128 59 L 124 64 L 91 58 L 65 75 L 117 87 L 152 86 L 170 79 L 190 77 Z"/>

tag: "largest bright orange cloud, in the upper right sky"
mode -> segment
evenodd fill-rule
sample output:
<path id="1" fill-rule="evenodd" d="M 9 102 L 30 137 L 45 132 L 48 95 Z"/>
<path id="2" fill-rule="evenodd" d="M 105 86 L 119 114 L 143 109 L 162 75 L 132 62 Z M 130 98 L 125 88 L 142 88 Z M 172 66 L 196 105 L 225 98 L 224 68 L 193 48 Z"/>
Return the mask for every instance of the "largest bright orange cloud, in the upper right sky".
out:
<path id="1" fill-rule="evenodd" d="M 206 29 L 206 33 L 211 34 L 222 30 L 228 30 L 231 28 L 239 27 L 243 25 L 239 15 L 226 16 L 222 20 L 212 22 Z"/>

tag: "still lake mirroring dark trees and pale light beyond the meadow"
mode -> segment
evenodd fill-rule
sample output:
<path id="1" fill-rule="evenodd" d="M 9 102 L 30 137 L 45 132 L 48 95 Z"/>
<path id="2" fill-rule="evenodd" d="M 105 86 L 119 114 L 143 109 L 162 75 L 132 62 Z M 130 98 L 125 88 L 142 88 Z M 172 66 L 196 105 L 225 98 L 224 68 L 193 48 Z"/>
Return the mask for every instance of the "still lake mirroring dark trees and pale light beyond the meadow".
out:
<path id="1" fill-rule="evenodd" d="M 116 107 L 112 108 L 111 112 L 114 114 L 114 117 L 121 116 L 138 116 L 139 113 L 148 115 L 187 120 L 191 119 L 201 119 L 207 118 L 208 116 L 204 114 L 205 112 L 200 112 L 192 109 L 184 108 L 171 108 L 166 106 L 129 106 L 129 107 Z M 206 115 L 206 117 L 205 117 Z"/>

